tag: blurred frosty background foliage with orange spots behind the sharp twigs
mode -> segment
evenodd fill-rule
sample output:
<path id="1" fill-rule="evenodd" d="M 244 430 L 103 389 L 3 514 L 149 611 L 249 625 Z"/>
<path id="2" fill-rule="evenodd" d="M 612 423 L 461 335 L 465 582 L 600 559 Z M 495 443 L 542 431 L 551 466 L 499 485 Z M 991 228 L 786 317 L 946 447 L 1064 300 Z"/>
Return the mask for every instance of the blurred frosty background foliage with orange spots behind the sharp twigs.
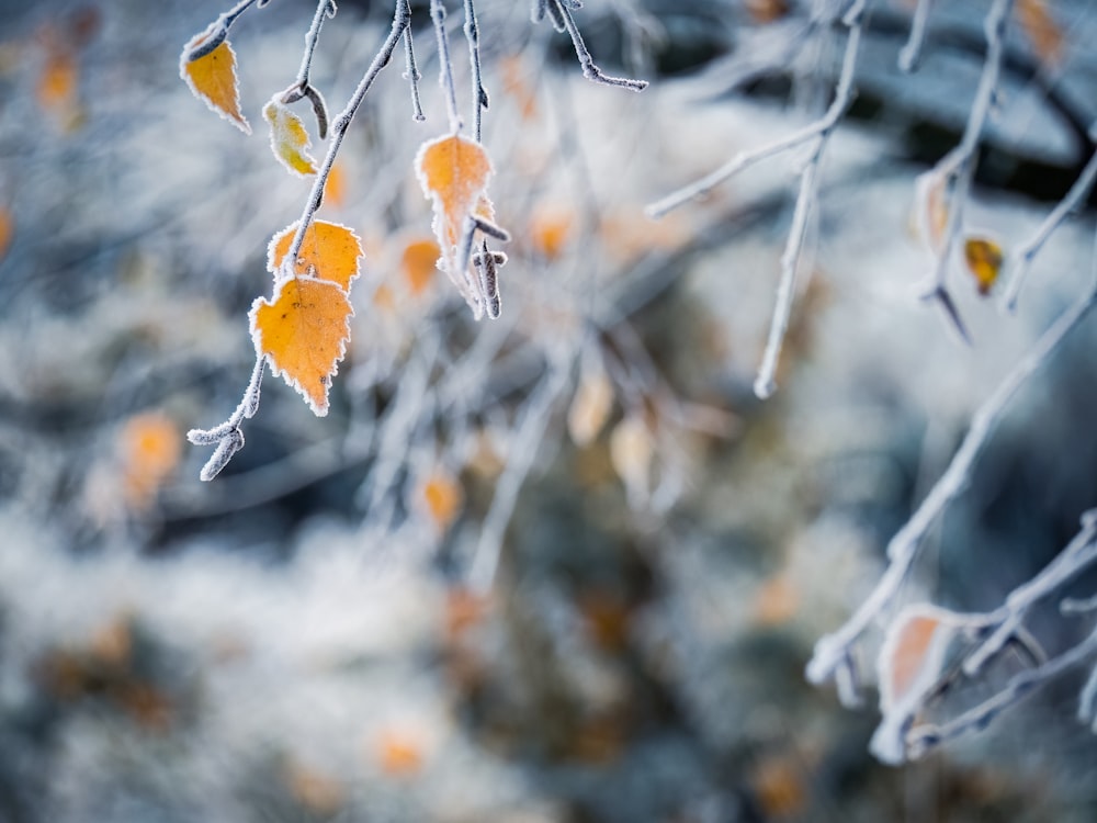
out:
<path id="1" fill-rule="evenodd" d="M 233 31 L 257 132 L 310 5 Z M 1088 210 L 1017 316 L 960 283 L 972 347 L 917 300 L 913 180 L 962 129 L 986 3 L 939 4 L 914 76 L 894 68 L 912 4 L 874 4 L 766 404 L 795 158 L 660 222 L 643 206 L 822 111 L 840 49 L 793 0 L 587 5 L 596 58 L 643 94 L 584 81 L 525 3 L 478 4 L 514 239 L 504 317 L 477 325 L 434 277 L 410 172 L 444 129 L 412 4 L 428 121 L 389 67 L 320 215 L 366 246 L 332 412 L 268 380 L 201 484 L 182 435 L 236 405 L 267 243 L 308 183 L 179 80 L 220 3 L 0 2 L 0 820 L 1093 819 L 1074 680 L 887 769 L 871 709 L 803 678 L 1090 264 Z M 1097 13 L 1047 9 L 1059 40 L 1010 33 L 971 205 L 1007 248 L 1097 117 Z M 389 14 L 339 3 L 314 74 L 333 110 Z M 1097 501 L 1095 342 L 1010 410 L 912 597 L 991 607 L 1074 534 Z"/>

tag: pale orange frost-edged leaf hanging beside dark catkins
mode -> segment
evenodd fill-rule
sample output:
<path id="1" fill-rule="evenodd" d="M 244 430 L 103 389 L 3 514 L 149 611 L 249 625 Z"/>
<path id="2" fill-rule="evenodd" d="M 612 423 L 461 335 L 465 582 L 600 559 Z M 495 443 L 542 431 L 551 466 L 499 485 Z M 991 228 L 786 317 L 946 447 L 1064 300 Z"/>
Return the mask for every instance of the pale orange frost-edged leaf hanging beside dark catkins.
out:
<path id="1" fill-rule="evenodd" d="M 478 143 L 454 134 L 422 144 L 415 169 L 423 194 L 433 204 L 434 235 L 442 257 L 450 273 L 455 274 L 456 246 L 465 219 L 490 210 L 484 194 L 491 161 Z"/>

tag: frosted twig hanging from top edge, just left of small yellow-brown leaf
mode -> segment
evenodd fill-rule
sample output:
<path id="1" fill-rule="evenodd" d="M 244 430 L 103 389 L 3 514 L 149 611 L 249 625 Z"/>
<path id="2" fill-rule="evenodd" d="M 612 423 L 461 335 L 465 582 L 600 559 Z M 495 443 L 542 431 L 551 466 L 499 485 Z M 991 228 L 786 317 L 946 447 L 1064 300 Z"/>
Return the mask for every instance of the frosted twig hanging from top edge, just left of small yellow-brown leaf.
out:
<path id="1" fill-rule="evenodd" d="M 937 262 L 926 289 L 926 298 L 937 301 L 965 340 L 970 340 L 970 335 L 948 291 L 949 263 L 952 259 L 952 249 L 963 225 L 964 205 L 975 171 L 975 155 L 979 151 L 979 143 L 994 104 L 998 78 L 1002 74 L 1006 24 L 1013 5 L 1014 0 L 995 0 L 991 11 L 987 12 L 984 21 L 986 58 L 983 61 L 983 74 L 971 104 L 963 136 L 960 138 L 960 143 L 941 158 L 937 166 L 925 172 L 927 177 L 940 180 L 946 190 L 951 187 L 948 219 L 938 249 Z"/>

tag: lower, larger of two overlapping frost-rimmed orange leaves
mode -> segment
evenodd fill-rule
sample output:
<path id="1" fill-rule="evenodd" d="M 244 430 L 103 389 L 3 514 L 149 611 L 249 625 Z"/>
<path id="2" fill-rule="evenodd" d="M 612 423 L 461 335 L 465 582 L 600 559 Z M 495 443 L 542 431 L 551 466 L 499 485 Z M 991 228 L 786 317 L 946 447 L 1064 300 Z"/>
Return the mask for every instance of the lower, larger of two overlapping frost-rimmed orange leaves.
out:
<path id="1" fill-rule="evenodd" d="M 342 289 L 304 275 L 283 281 L 273 302 L 260 297 L 248 314 L 256 352 L 318 417 L 328 413 L 328 388 L 347 352 L 353 314 Z"/>

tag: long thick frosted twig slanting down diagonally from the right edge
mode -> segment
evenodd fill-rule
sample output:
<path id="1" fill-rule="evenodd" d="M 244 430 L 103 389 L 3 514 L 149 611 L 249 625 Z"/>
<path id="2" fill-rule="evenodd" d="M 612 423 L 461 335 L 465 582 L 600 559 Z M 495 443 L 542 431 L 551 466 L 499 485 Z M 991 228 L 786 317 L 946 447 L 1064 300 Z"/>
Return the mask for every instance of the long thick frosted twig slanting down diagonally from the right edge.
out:
<path id="1" fill-rule="evenodd" d="M 1094 280 L 1097 281 L 1097 271 Z M 895 599 L 906 579 L 914 561 L 918 556 L 923 540 L 937 518 L 968 485 L 972 467 L 983 447 L 997 427 L 1010 402 L 1042 365 L 1066 336 L 1088 315 L 1097 303 L 1097 282 L 1092 282 L 1086 294 L 1065 311 L 1037 341 L 1032 350 L 1006 375 L 1006 379 L 991 394 L 972 416 L 971 427 L 960 449 L 949 463 L 949 467 L 929 494 L 918 506 L 906 525 L 887 544 L 887 568 L 875 588 L 861 604 L 853 616 L 836 632 L 819 639 L 815 652 L 807 664 L 807 679 L 823 683 L 834 677 L 839 669 L 844 677 L 852 677 L 852 646 L 861 634 Z"/>

